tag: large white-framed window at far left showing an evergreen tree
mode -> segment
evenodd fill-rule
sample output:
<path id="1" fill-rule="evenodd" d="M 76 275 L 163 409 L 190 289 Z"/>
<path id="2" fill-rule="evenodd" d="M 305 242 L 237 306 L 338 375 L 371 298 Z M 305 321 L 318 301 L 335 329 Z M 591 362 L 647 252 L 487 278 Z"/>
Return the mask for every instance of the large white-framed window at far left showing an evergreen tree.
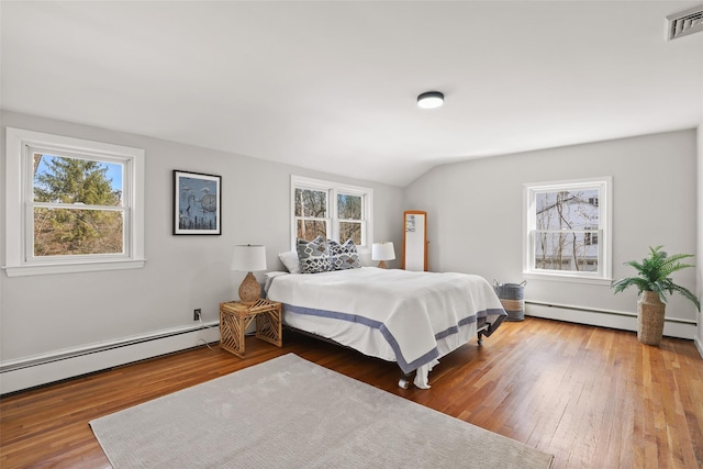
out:
<path id="1" fill-rule="evenodd" d="M 144 266 L 144 150 L 7 130 L 8 276 Z"/>

